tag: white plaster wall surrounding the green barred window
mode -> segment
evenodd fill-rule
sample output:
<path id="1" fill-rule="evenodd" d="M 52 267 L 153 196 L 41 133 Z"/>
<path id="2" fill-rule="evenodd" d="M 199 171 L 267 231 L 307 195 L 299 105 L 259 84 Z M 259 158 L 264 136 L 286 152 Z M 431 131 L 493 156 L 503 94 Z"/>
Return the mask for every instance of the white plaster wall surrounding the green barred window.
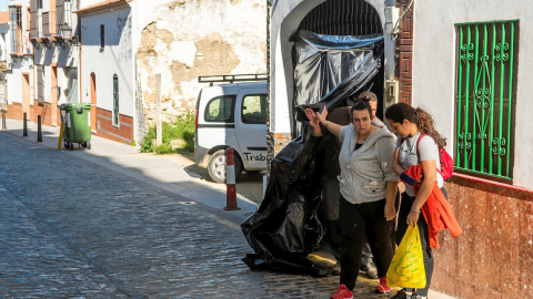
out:
<path id="1" fill-rule="evenodd" d="M 533 188 L 533 130 L 530 86 L 533 85 L 533 1 L 447 0 L 414 1 L 413 105 L 426 109 L 438 130 L 454 148 L 456 65 L 455 23 L 520 20 L 514 184 Z"/>

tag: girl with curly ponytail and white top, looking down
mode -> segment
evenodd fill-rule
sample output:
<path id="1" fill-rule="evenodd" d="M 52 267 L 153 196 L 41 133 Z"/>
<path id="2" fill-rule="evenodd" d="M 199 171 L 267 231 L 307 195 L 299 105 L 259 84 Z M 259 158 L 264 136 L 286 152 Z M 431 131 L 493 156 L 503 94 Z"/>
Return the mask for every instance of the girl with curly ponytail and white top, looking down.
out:
<path id="1" fill-rule="evenodd" d="M 396 244 L 400 244 L 402 240 L 408 226 L 419 226 L 420 240 L 424 256 L 426 286 L 424 289 L 419 290 L 400 290 L 392 298 L 426 298 L 434 267 L 431 246 L 433 246 L 433 248 L 439 248 L 439 245 L 434 245 L 434 239 L 430 241 L 430 236 L 432 234 L 431 223 L 429 227 L 428 220 L 425 219 L 426 215 L 421 215 L 423 214 L 421 210 L 423 209 L 424 204 L 426 204 L 428 198 L 432 196 L 435 184 L 441 188 L 444 197 L 447 198 L 446 190 L 443 188 L 444 179 L 441 173 L 440 157 L 440 150 L 446 145 L 446 138 L 436 132 L 433 117 L 420 107 L 413 109 L 405 103 L 398 103 L 386 110 L 385 118 L 391 125 L 392 131 L 398 134 L 396 148 L 394 151 L 392 163 L 392 169 L 394 173 L 398 176 L 401 176 L 409 167 L 420 164 L 423 174 L 420 181 L 415 182 L 415 189 L 413 189 L 412 186 L 409 186 L 409 184 L 405 184 L 406 188 L 402 194 L 402 202 L 398 217 Z M 433 235 L 433 237 L 435 236 Z"/>

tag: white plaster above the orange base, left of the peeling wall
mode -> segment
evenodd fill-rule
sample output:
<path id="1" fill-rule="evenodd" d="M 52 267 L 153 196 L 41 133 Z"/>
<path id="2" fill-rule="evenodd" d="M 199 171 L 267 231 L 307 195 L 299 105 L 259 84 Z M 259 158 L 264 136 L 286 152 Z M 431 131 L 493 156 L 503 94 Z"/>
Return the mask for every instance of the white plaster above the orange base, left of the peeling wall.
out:
<path id="1" fill-rule="evenodd" d="M 119 78 L 119 113 L 134 116 L 134 71 L 130 9 L 81 19 L 81 95 L 91 102 L 90 74 L 95 74 L 97 106 L 113 110 L 113 74 Z M 105 47 L 100 49 L 100 24 Z"/>

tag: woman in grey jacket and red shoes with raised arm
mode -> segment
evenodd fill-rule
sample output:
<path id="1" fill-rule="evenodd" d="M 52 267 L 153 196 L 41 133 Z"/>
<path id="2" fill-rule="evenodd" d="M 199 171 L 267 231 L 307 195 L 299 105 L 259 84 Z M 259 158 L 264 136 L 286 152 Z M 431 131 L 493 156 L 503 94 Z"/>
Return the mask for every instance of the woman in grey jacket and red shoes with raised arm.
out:
<path id="1" fill-rule="evenodd" d="M 394 198 L 399 177 L 392 171 L 391 161 L 395 136 L 385 127 L 372 124 L 372 109 L 365 101 L 358 101 L 351 110 L 351 124 L 341 126 L 326 120 L 328 110 L 314 113 L 305 110 L 313 136 L 322 136 L 321 125 L 339 137 L 341 175 L 340 217 L 342 230 L 341 278 L 339 289 L 331 299 L 353 298 L 352 290 L 361 266 L 364 233 L 374 254 L 380 277 L 376 292 L 388 292 L 385 274 L 393 249 L 390 241 L 395 217 Z"/>

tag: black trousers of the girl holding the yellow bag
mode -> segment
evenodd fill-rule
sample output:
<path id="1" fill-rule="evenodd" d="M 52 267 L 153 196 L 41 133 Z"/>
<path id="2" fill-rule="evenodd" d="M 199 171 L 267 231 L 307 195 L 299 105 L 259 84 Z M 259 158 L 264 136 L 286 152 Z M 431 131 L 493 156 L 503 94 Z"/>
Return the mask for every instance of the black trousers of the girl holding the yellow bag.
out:
<path id="1" fill-rule="evenodd" d="M 441 188 L 442 193 L 447 199 L 447 193 L 444 188 Z M 402 241 L 405 231 L 408 230 L 408 215 L 411 212 L 411 207 L 413 206 L 414 197 L 409 196 L 406 193 L 402 194 L 402 203 L 400 205 L 400 214 L 398 215 L 398 233 L 396 233 L 396 244 L 400 245 Z M 433 259 L 433 255 L 431 252 L 430 247 L 430 235 L 428 233 L 428 223 L 425 221 L 424 216 L 420 215 L 419 221 L 416 223 L 419 226 L 420 233 L 420 241 L 422 244 L 422 254 L 424 255 L 424 268 L 425 268 L 425 288 L 419 289 L 416 292 L 420 296 L 428 297 L 428 291 L 430 290 L 431 286 L 431 278 L 433 277 L 433 268 L 435 265 L 435 260 Z M 408 289 L 408 291 L 412 291 Z"/>

